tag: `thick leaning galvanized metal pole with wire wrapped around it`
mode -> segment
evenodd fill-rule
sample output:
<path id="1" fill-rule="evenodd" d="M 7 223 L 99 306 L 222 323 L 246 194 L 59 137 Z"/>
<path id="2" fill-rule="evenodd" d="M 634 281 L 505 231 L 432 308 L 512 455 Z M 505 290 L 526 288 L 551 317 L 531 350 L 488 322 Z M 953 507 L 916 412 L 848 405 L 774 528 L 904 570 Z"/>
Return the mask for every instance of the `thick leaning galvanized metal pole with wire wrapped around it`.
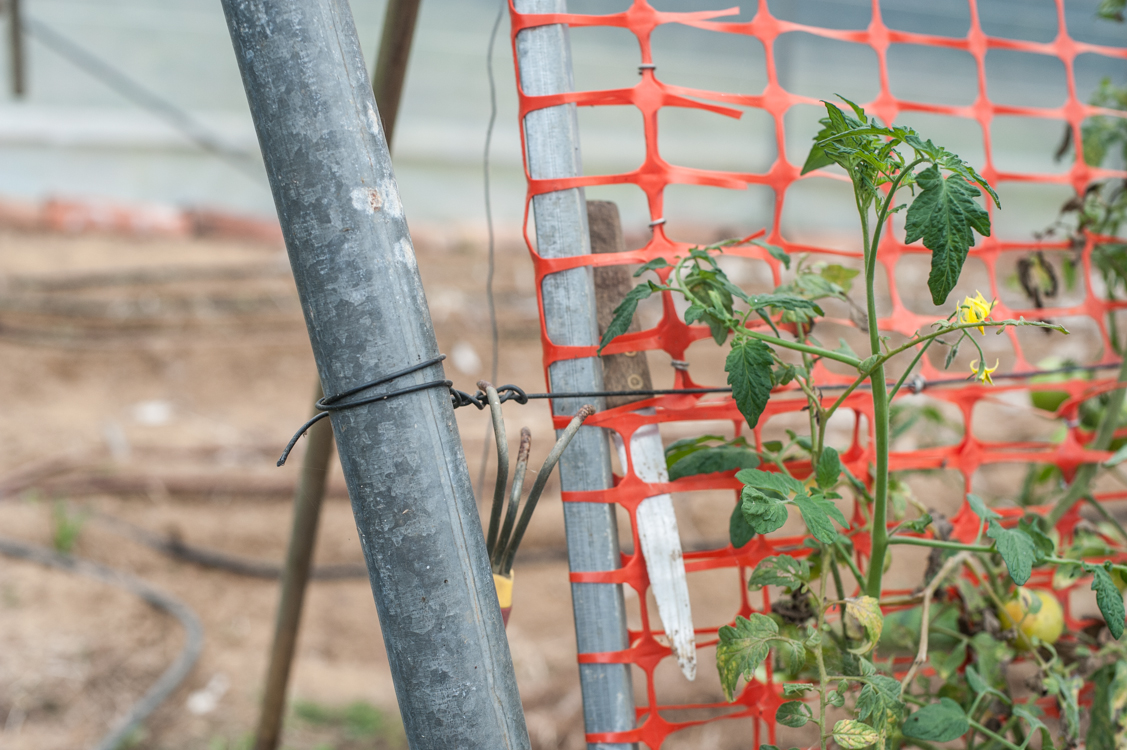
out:
<path id="1" fill-rule="evenodd" d="M 223 10 L 325 390 L 436 358 L 347 2 Z M 383 388 L 442 379 L 434 364 Z M 332 429 L 408 743 L 529 748 L 450 394 L 335 412 Z"/>

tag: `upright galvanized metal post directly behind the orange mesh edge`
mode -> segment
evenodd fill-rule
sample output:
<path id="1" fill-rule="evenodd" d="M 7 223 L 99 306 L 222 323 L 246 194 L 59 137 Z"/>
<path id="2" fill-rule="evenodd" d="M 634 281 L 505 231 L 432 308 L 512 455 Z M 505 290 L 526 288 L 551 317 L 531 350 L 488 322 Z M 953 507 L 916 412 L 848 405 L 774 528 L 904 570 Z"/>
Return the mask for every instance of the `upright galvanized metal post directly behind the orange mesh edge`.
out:
<path id="1" fill-rule="evenodd" d="M 515 0 L 524 14 L 567 12 L 566 0 Z M 567 26 L 557 24 L 522 30 L 516 37 L 521 87 L 543 96 L 571 91 L 571 48 Z M 575 105 L 530 112 L 524 118 L 529 171 L 533 178 L 575 177 L 582 171 Z M 591 253 L 587 203 L 583 189 L 538 195 L 532 200 L 536 247 L 545 257 Z M 544 324 L 557 344 L 587 346 L 598 343 L 595 285 L 591 268 L 552 274 L 543 282 Z M 566 360 L 550 365 L 552 390 L 603 389 L 597 358 Z M 591 400 L 591 399 L 587 399 Z M 579 399 L 553 400 L 556 414 L 575 414 Z M 602 399 L 597 408 L 604 408 Z M 605 489 L 611 486 L 610 445 L 603 430 L 583 427 L 560 460 L 565 491 Z M 568 562 L 573 571 L 610 571 L 619 566 L 618 522 L 614 508 L 604 503 L 565 503 Z M 622 588 L 610 583 L 573 583 L 575 630 L 579 653 L 621 651 L 629 645 Z M 619 732 L 635 727 L 633 686 L 628 664 L 580 664 L 583 713 L 587 732 Z M 598 750 L 621 750 L 629 744 L 593 743 Z"/>

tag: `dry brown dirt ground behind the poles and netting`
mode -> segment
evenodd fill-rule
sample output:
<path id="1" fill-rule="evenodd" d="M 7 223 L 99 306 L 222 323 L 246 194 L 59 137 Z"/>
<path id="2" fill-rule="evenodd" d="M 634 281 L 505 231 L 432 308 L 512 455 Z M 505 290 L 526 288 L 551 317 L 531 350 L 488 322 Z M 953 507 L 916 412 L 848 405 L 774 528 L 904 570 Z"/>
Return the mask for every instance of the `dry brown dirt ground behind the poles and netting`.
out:
<path id="1" fill-rule="evenodd" d="M 438 343 L 451 354 L 447 373 L 472 390 L 489 367 L 485 253 L 470 238 L 420 233 L 416 242 Z M 134 747 L 245 748 L 261 695 L 276 584 L 171 559 L 112 520 L 255 559 L 283 557 L 301 456 L 283 469 L 274 461 L 307 417 L 314 387 L 284 253 L 201 239 L 11 232 L 0 233 L 0 535 L 48 547 L 73 541 L 74 554 L 187 602 L 206 632 L 203 656 Z M 542 390 L 532 267 L 512 239 L 498 248 L 496 284 L 499 380 Z M 663 387 L 671 381 L 667 362 L 653 358 L 655 383 Z M 701 358 L 719 367 L 715 356 Z M 530 466 L 539 466 L 551 433 L 544 403 L 506 406 L 506 414 L 511 434 L 532 429 Z M 485 415 L 460 409 L 458 420 L 476 476 Z M 958 483 L 932 482 L 925 492 L 957 502 Z M 330 489 L 316 561 L 360 563 L 339 469 Z M 719 504 L 677 502 L 687 546 L 725 537 L 730 495 Z M 527 557 L 518 558 L 508 626 L 539 749 L 584 747 L 562 545 L 559 494 L 550 486 L 525 541 Z M 735 606 L 735 574 L 700 579 L 696 621 L 720 625 Z M 181 642 L 172 618 L 127 593 L 0 558 L 0 748 L 89 747 Z M 700 660 L 692 686 L 675 668 L 663 671 L 659 697 L 719 700 L 712 652 Z M 284 747 L 401 747 L 366 580 L 311 584 L 291 685 L 303 708 L 289 721 Z M 348 706 L 363 718 L 357 704 L 382 712 L 382 727 L 373 724 L 379 717 L 349 720 Z M 720 722 L 665 747 L 752 747 L 748 730 Z"/>

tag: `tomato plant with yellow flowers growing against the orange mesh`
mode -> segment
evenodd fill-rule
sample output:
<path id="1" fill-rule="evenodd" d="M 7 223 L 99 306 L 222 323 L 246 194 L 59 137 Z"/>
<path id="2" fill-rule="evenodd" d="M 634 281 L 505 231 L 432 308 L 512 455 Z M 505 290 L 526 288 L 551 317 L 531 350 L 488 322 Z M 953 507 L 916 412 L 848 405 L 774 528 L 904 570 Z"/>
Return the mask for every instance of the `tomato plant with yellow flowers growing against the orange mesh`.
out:
<path id="1" fill-rule="evenodd" d="M 888 461 L 891 399 L 931 347 L 947 348 L 947 367 L 960 347 L 973 347 L 977 358 L 968 376 L 991 385 L 999 365 L 987 360 L 979 343 L 987 329 L 1002 333 L 1033 326 L 1061 335 L 1067 330 L 1047 321 L 996 320 L 994 303 L 980 293 L 949 300 L 975 233 L 991 231 L 990 213 L 979 200 L 999 205 L 997 195 L 958 156 L 912 129 L 885 126 L 860 106 L 845 104 L 848 108 L 826 103 L 823 129 L 804 171 L 836 165 L 849 176 L 861 226 L 860 270 L 808 264 L 763 245 L 788 268 L 793 263 L 792 280 L 771 293 L 749 294 L 717 262 L 727 244 L 693 248 L 683 257 L 659 258 L 638 271 L 639 276 L 659 273 L 656 281 L 645 281 L 627 295 L 602 341 L 605 346 L 627 330 L 640 300 L 671 292 L 687 303 L 686 323 L 708 326 L 718 345 L 728 345 L 728 383 L 752 427 L 780 387 L 792 386 L 790 391 L 797 388 L 805 399 L 808 432 L 791 432 L 787 442 L 756 447 L 709 435 L 669 447 L 674 477 L 739 469 L 735 476 L 744 486 L 729 523 L 735 547 L 778 531 L 792 515 L 801 519 L 809 535 L 802 550 L 767 557 L 753 571 L 749 588 L 770 586 L 783 597 L 773 597 L 772 612 L 738 617 L 720 628 L 721 685 L 731 699 L 742 679 L 755 679 L 756 671 L 770 663 L 784 679 L 786 702 L 777 721 L 815 727 L 823 750 L 831 742 L 842 748 L 934 748 L 952 741 L 967 748 L 1026 750 L 1035 735 L 1040 736 L 1041 748 L 1061 747 L 1058 742 L 1075 747 L 1085 678 L 1102 676 L 1104 687 L 1097 702 L 1127 690 L 1127 670 L 1115 667 L 1127 653 L 1118 643 L 1125 611 L 1116 585 L 1127 567 L 1089 562 L 1127 553 L 1127 533 L 1112 539 L 1080 532 L 1059 539 L 1054 531 L 1055 521 L 1090 493 L 1097 467 L 1077 474 L 1049 519 L 1029 515 L 1014 523 L 968 495 L 979 524 L 977 537 L 964 544 L 950 540 L 941 524 L 923 512 L 890 522 L 890 504 L 903 488 L 889 475 Z M 911 198 L 900 203 L 906 194 Z M 878 328 L 875 281 L 881 235 L 902 211 L 905 241 L 922 241 L 931 253 L 928 293 L 949 315 L 894 344 Z M 859 326 L 869 338 L 864 355 L 845 344 L 831 348 L 814 334 L 824 316 L 820 302 L 852 303 L 848 294 L 854 281 L 864 294 L 859 310 Z M 889 382 L 886 364 L 897 358 L 907 367 Z M 857 373 L 836 398 L 826 398 L 818 389 L 814 368 L 819 361 L 845 364 Z M 869 394 L 875 415 L 875 461 L 864 476 L 855 476 L 827 440 L 831 417 L 859 389 Z M 1106 411 L 1093 442 L 1097 449 L 1109 445 L 1119 424 L 1122 391 L 1115 392 L 1120 400 Z M 859 523 L 848 521 L 835 503 L 842 493 L 859 501 L 863 517 Z M 861 539 L 867 555 L 857 554 Z M 916 593 L 890 597 L 884 575 L 900 546 L 930 548 L 932 564 Z M 1058 642 L 1059 602 L 1053 594 L 1022 588 L 1036 568 L 1053 571 L 1062 585 L 1086 576 L 1106 634 L 1074 634 L 1066 653 Z M 850 579 L 854 590 L 846 588 Z M 783 601 L 786 617 L 779 615 Z M 1041 691 L 1056 704 L 1061 716 L 1056 736 L 1038 705 L 1019 700 L 1010 688 L 1004 665 L 1019 650 L 1036 668 Z M 1100 672 L 1104 665 L 1115 669 Z M 1116 721 L 1118 714 L 1108 713 L 1098 734 L 1107 734 L 1106 724 Z M 1094 715 L 1092 726 L 1097 726 Z M 1090 742 L 1090 747 L 1099 745 Z"/>

